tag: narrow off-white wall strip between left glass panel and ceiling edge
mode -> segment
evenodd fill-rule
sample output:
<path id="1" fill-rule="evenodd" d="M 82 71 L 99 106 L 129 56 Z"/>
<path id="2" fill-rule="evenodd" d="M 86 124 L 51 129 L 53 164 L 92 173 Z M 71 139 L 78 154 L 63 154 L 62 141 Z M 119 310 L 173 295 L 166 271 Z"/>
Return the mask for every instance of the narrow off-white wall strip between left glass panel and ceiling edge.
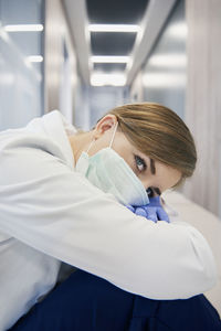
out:
<path id="1" fill-rule="evenodd" d="M 76 56 L 61 0 L 45 0 L 45 113 L 59 109 L 75 122 Z"/>

